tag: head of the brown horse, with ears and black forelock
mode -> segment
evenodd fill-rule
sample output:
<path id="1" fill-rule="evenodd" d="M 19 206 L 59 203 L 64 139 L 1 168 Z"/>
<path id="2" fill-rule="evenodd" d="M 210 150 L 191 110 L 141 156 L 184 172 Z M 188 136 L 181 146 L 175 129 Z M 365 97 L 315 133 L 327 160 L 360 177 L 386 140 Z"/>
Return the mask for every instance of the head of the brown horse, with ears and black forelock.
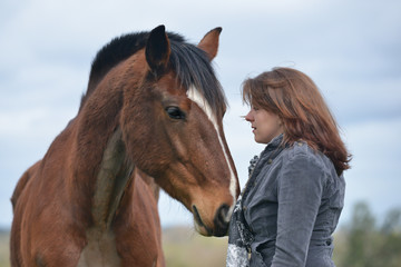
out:
<path id="1" fill-rule="evenodd" d="M 226 234 L 239 192 L 223 132 L 225 97 L 211 66 L 221 31 L 193 46 L 159 26 L 121 73 L 143 73 L 121 85 L 120 126 L 130 160 L 192 211 L 205 236 Z"/>

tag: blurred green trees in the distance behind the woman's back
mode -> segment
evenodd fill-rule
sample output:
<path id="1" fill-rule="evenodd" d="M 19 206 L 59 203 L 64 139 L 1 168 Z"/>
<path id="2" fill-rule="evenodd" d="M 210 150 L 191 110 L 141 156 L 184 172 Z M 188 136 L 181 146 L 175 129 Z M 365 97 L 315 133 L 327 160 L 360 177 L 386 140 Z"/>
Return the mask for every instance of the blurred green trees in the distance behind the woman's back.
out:
<path id="1" fill-rule="evenodd" d="M 365 202 L 356 204 L 334 245 L 338 267 L 401 267 L 401 208 L 378 219 Z"/>

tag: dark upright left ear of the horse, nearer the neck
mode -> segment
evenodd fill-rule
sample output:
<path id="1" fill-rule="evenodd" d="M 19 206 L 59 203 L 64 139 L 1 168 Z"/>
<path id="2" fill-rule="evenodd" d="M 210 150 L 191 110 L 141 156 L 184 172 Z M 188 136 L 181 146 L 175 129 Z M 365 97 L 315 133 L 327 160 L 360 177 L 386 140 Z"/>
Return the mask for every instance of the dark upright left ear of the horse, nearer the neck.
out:
<path id="1" fill-rule="evenodd" d="M 167 67 L 170 44 L 165 26 L 158 26 L 150 31 L 146 43 L 145 56 L 153 72 L 157 73 Z"/>

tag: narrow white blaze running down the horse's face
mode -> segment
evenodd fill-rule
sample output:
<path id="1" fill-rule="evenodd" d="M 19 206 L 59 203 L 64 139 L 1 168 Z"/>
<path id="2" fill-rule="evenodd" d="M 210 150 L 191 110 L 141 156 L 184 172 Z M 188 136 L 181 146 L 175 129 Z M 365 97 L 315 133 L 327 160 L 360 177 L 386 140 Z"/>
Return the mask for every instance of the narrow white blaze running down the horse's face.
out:
<path id="1" fill-rule="evenodd" d="M 218 141 L 219 141 L 219 144 L 222 146 L 222 149 L 223 149 L 223 152 L 224 152 L 224 156 L 225 156 L 228 169 L 229 169 L 229 175 L 231 175 L 229 192 L 233 196 L 233 201 L 234 202 L 233 202 L 232 207 L 228 210 L 227 217 L 225 218 L 226 221 L 228 221 L 229 218 L 231 218 L 231 215 L 233 212 L 233 209 L 234 209 L 234 206 L 235 206 L 234 204 L 235 204 L 235 200 L 236 200 L 235 199 L 236 179 L 235 179 L 233 168 L 232 168 L 232 166 L 229 164 L 228 155 L 227 155 L 227 151 L 226 151 L 226 149 L 224 147 L 222 136 L 221 136 L 219 130 L 218 130 L 217 118 L 213 113 L 213 110 L 212 110 L 211 106 L 208 105 L 208 102 L 206 101 L 206 99 L 204 98 L 204 96 L 202 96 L 200 92 L 195 87 L 190 87 L 188 89 L 187 97 L 199 106 L 199 108 L 205 112 L 207 118 L 212 121 L 212 125 L 215 127 L 215 130 L 216 130 L 217 137 L 218 137 Z"/>

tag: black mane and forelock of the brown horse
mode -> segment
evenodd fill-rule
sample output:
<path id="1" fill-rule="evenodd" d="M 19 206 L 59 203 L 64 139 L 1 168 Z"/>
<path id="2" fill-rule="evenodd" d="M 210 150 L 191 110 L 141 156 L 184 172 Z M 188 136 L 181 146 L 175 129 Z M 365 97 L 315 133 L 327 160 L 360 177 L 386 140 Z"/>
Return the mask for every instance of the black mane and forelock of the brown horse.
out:
<path id="1" fill-rule="evenodd" d="M 215 112 L 222 113 L 226 106 L 223 89 L 216 79 L 207 55 L 176 33 L 167 32 L 172 53 L 170 66 L 185 88 L 194 86 L 205 97 Z M 129 33 L 113 39 L 96 55 L 89 75 L 88 89 L 80 108 L 104 76 L 119 62 L 128 59 L 146 46 L 149 32 Z"/>

